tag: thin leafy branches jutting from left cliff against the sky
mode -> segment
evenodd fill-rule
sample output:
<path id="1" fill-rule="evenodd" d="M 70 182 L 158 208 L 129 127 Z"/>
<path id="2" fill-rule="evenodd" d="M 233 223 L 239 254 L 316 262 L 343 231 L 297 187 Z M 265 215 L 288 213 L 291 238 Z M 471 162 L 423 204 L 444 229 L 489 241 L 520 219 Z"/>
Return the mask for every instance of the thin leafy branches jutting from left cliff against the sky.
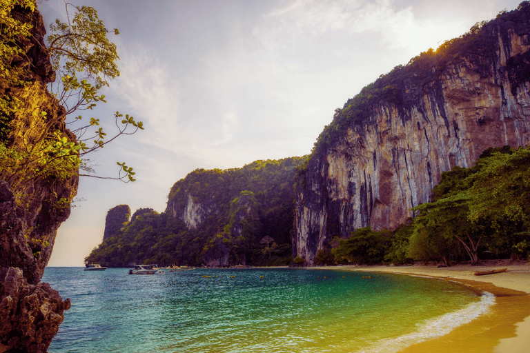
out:
<path id="1" fill-rule="evenodd" d="M 54 70 L 61 77 L 57 84 L 52 84 L 52 91 L 59 99 L 66 112 L 64 116 L 70 116 L 78 110 L 92 110 L 97 102 L 106 103 L 105 96 L 99 95 L 98 90 L 108 86 L 109 79 L 119 77 L 117 60 L 119 60 L 116 45 L 108 39 L 108 34 L 119 34 L 117 28 L 109 31 L 103 21 L 97 16 L 97 11 L 90 6 L 74 6 L 71 3 L 65 3 L 67 22 L 63 23 L 57 19 L 55 24 L 50 24 L 51 34 L 48 36 L 48 52 L 52 61 Z M 73 12 L 72 12 L 73 11 Z M 57 117 L 63 119 L 63 117 Z M 115 125 L 118 132 L 114 137 L 106 137 L 103 128 L 97 128 L 95 134 L 89 134 L 85 137 L 88 128 L 100 125 L 99 119 L 90 117 L 88 123 L 82 123 L 83 117 L 78 115 L 67 123 L 79 123 L 72 132 L 77 134 L 77 139 L 81 150 L 79 157 L 103 148 L 123 134 L 134 134 L 137 130 L 143 130 L 143 123 L 135 121 L 133 117 L 116 112 Z M 50 119 L 48 126 L 55 122 Z M 129 129 L 132 128 L 132 129 Z M 48 130 L 48 129 L 46 129 Z M 43 134 L 46 134 L 43 132 Z M 86 142 L 92 141 L 92 145 L 86 145 Z M 97 177 L 100 179 L 119 179 L 126 181 L 135 181 L 132 168 L 125 163 L 119 165 L 119 177 Z M 81 169 L 84 165 L 81 164 Z M 89 171 L 89 170 L 88 170 Z M 96 177 L 91 174 L 81 174 L 85 177 Z"/>

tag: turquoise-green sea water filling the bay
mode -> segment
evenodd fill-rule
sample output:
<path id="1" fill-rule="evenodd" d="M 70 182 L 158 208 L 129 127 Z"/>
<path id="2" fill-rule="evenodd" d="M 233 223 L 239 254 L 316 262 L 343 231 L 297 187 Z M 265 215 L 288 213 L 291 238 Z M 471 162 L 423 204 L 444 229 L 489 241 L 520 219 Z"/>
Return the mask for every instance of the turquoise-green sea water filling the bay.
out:
<path id="1" fill-rule="evenodd" d="M 337 270 L 46 268 L 42 280 L 72 301 L 52 353 L 396 352 L 494 301 L 460 283 Z"/>

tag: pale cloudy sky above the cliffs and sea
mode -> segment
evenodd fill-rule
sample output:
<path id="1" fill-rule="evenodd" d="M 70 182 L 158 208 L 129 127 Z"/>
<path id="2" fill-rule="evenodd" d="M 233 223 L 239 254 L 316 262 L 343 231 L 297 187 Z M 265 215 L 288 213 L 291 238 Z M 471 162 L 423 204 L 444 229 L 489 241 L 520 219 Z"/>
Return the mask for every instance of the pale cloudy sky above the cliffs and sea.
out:
<path id="1" fill-rule="evenodd" d="M 137 181 L 81 177 L 49 266 L 82 266 L 116 205 L 166 209 L 171 186 L 197 168 L 241 168 L 311 152 L 336 108 L 380 74 L 513 10 L 522 0 L 69 0 L 92 6 L 117 45 L 121 72 L 93 111 L 145 130 L 87 155 L 98 177 L 116 162 Z M 63 0 L 38 2 L 44 23 Z M 48 26 L 47 26 L 48 27 Z"/>

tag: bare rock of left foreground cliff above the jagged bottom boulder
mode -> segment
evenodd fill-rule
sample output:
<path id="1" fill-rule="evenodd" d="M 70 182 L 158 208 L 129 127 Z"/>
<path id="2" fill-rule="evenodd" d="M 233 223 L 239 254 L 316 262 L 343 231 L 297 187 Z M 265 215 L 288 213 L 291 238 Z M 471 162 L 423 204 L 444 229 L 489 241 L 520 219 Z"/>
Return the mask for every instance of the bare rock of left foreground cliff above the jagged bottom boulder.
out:
<path id="1" fill-rule="evenodd" d="M 43 47 L 46 30 L 41 15 L 37 10 L 31 12 L 15 6 L 12 17 L 33 26 L 32 37 L 20 39 L 26 55 L 13 59 L 19 67 L 27 66 L 29 70 L 26 85 L 2 87 L 0 94 L 2 97 L 17 97 L 23 102 L 8 119 L 12 126 L 18 127 L 20 136 L 30 139 L 32 131 L 39 128 L 36 116 L 40 112 L 59 117 L 64 114 L 64 109 L 46 90 L 46 83 L 55 80 L 55 74 Z M 63 119 L 57 120 L 55 128 L 70 141 L 75 141 L 75 135 L 66 129 Z M 6 145 L 21 143 L 18 139 L 19 136 L 8 139 Z M 13 179 L 0 172 L 4 180 Z M 57 229 L 70 215 L 70 200 L 77 192 L 77 183 L 77 174 L 66 180 L 56 177 L 29 179 L 23 181 L 22 191 L 18 191 L 23 195 L 17 199 L 10 185 L 0 182 L 0 267 L 20 268 L 28 283 L 40 281 L 52 253 Z"/>

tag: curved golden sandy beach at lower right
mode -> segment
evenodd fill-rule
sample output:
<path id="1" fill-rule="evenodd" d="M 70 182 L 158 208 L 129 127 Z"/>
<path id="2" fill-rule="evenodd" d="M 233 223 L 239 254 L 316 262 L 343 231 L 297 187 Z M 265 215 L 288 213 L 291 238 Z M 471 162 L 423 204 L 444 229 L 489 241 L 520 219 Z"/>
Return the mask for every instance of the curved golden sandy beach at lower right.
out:
<path id="1" fill-rule="evenodd" d="M 476 271 L 500 268 L 508 270 L 499 274 L 474 275 Z M 339 269 L 441 277 L 495 295 L 495 305 L 487 314 L 446 336 L 417 343 L 401 352 L 530 352 L 530 263 L 490 261 L 479 266 L 455 265 L 450 268 L 438 268 L 435 265 L 378 265 L 337 267 Z"/>

